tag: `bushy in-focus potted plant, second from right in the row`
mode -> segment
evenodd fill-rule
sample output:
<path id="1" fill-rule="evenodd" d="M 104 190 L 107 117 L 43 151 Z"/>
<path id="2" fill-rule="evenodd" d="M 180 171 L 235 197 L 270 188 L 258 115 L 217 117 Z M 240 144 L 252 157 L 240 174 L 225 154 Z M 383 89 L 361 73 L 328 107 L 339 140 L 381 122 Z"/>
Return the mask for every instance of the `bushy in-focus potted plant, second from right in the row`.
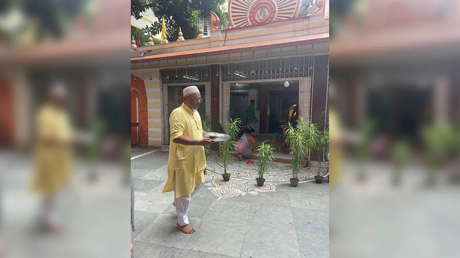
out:
<path id="1" fill-rule="evenodd" d="M 289 154 L 292 155 L 292 178 L 289 180 L 293 187 L 298 184 L 298 172 L 302 167 L 302 162 L 307 157 L 307 130 L 308 125 L 302 117 L 298 119 L 296 127 L 288 122 L 286 141 L 289 144 Z"/>

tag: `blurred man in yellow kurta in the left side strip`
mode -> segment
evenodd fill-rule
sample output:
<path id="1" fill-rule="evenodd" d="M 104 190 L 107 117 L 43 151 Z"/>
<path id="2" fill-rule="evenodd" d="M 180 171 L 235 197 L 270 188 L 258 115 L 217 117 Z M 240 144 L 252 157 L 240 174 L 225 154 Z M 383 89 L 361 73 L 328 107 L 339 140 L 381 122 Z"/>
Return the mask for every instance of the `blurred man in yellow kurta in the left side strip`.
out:
<path id="1" fill-rule="evenodd" d="M 37 144 L 33 190 L 43 197 L 43 226 L 59 231 L 55 199 L 68 182 L 72 165 L 72 131 L 65 111 L 66 92 L 62 87 L 50 91 L 49 101 L 38 112 Z"/>

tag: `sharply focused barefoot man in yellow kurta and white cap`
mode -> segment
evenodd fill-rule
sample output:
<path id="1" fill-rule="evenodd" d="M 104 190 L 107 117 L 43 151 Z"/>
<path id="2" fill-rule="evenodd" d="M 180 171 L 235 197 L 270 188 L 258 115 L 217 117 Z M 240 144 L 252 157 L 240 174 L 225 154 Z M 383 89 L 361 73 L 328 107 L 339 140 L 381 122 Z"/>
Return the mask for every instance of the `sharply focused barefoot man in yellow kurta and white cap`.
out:
<path id="1" fill-rule="evenodd" d="M 168 181 L 163 192 L 174 191 L 177 213 L 176 227 L 183 233 L 196 231 L 189 225 L 187 216 L 191 197 L 204 182 L 203 170 L 206 168 L 204 147 L 211 140 L 203 138 L 206 134 L 201 127 L 201 117 L 197 108 L 201 94 L 196 86 L 183 89 L 182 106 L 172 111 L 169 117 L 170 146 L 168 159 Z"/>

